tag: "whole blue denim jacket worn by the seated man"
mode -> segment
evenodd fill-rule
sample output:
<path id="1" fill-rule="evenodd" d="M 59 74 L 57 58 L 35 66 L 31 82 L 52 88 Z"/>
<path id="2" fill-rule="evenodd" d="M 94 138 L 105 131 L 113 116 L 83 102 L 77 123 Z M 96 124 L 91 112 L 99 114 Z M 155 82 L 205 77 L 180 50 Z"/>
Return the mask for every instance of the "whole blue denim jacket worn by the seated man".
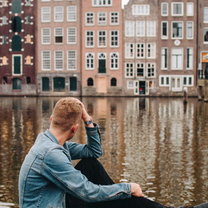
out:
<path id="1" fill-rule="evenodd" d="M 87 202 L 131 197 L 129 184 L 96 185 L 73 167 L 73 159 L 102 155 L 98 127 L 86 128 L 86 132 L 84 145 L 59 145 L 49 130 L 38 135 L 19 174 L 20 208 L 64 208 L 65 193 Z"/>

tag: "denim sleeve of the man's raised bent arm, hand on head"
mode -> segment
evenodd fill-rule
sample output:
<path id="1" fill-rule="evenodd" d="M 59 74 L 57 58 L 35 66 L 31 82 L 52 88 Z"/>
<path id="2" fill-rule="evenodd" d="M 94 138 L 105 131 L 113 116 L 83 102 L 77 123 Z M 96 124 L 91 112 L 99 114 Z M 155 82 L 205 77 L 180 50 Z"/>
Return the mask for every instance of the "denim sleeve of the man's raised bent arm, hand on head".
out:
<path id="1" fill-rule="evenodd" d="M 65 148 L 70 152 L 72 160 L 82 158 L 98 158 L 102 155 L 101 138 L 98 126 L 94 124 L 94 128 L 87 128 L 87 144 L 77 144 L 75 142 L 67 142 Z"/>

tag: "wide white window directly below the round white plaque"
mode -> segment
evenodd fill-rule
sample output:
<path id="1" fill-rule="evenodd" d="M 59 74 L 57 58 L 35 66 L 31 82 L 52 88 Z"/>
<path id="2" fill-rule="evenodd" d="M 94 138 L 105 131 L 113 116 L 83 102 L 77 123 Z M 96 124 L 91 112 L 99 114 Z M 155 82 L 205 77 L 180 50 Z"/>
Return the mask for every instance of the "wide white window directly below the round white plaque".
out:
<path id="1" fill-rule="evenodd" d="M 173 48 L 171 60 L 172 60 L 172 69 L 175 70 L 183 69 L 183 49 Z"/>

